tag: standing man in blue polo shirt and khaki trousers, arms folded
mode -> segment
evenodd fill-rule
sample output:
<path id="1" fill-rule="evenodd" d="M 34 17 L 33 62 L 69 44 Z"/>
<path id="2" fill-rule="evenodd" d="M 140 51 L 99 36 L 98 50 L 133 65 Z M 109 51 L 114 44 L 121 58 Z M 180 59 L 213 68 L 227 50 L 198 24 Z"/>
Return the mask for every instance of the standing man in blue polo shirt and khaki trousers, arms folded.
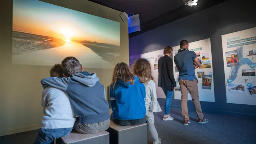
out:
<path id="1" fill-rule="evenodd" d="M 174 62 L 179 70 L 179 84 L 181 90 L 181 114 L 184 119 L 184 125 L 190 123 L 188 116 L 188 91 L 192 97 L 194 107 L 199 119 L 198 123 L 207 123 L 207 118 L 203 118 L 203 112 L 199 101 L 198 94 L 198 80 L 195 75 L 196 68 L 201 64 L 197 59 L 197 55 L 194 51 L 188 50 L 188 41 L 182 40 L 180 42 L 180 49 L 178 54 L 174 56 Z"/>

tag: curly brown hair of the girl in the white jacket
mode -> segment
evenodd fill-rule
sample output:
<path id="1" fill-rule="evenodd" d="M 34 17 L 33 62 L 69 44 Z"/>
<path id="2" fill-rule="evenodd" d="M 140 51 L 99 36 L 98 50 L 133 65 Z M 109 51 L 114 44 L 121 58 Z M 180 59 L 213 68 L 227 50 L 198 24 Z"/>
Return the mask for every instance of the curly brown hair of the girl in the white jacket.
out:
<path id="1" fill-rule="evenodd" d="M 140 78 L 141 83 L 145 84 L 150 80 L 154 80 L 151 75 L 151 66 L 147 59 L 137 59 L 133 64 L 132 70 L 134 75 L 137 75 Z"/>

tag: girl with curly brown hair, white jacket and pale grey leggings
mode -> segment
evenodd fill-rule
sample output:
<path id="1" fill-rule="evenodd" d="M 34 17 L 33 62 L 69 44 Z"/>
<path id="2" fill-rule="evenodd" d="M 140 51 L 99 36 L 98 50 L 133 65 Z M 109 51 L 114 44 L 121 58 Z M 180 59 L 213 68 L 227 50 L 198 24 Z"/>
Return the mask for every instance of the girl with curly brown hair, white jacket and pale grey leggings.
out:
<path id="1" fill-rule="evenodd" d="M 156 84 L 154 82 L 154 78 L 151 75 L 151 66 L 147 59 L 140 58 L 135 61 L 133 68 L 133 72 L 137 75 L 145 85 L 146 89 L 146 116 L 148 129 L 154 139 L 153 144 L 161 144 L 161 139 L 158 138 L 158 133 L 156 127 L 154 126 L 154 114 L 153 112 L 161 112 L 161 107 L 157 102 L 156 95 Z"/>

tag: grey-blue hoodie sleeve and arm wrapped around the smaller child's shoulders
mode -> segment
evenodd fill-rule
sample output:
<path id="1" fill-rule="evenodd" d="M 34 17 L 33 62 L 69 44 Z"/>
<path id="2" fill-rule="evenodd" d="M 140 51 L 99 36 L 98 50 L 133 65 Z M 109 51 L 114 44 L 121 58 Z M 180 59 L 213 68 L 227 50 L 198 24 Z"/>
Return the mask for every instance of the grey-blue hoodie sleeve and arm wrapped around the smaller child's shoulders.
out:
<path id="1" fill-rule="evenodd" d="M 57 89 L 60 90 L 67 90 L 68 87 L 68 81 L 69 81 L 69 77 L 62 77 L 62 78 L 58 78 L 58 77 L 47 77 L 41 80 L 41 84 L 42 87 L 48 87 L 48 86 L 52 86 L 55 87 Z"/>

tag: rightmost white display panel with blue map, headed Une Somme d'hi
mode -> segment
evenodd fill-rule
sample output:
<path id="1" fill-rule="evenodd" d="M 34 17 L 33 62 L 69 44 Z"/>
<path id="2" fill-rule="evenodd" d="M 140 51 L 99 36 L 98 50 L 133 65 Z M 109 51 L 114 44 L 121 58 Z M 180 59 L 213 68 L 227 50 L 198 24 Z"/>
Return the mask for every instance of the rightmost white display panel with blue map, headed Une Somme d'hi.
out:
<path id="1" fill-rule="evenodd" d="M 256 105 L 256 27 L 221 38 L 227 103 Z"/>

